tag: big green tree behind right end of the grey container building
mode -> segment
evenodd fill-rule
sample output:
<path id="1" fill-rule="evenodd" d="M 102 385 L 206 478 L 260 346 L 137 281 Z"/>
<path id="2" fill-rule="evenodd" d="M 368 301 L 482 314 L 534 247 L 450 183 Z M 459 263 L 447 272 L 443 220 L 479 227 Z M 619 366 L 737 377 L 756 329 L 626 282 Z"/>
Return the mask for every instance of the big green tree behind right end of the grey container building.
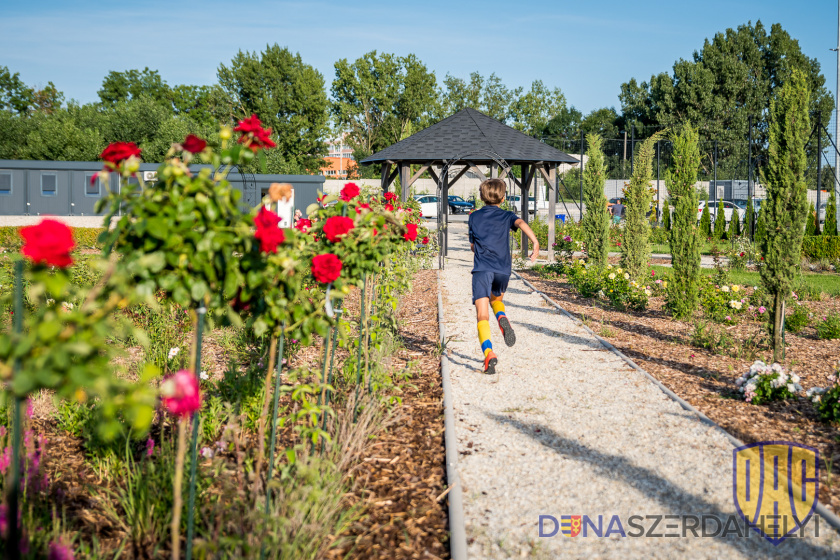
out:
<path id="1" fill-rule="evenodd" d="M 286 161 L 310 171 L 321 167 L 329 131 L 327 93 L 324 77 L 300 54 L 276 43 L 259 54 L 239 51 L 229 67 L 219 66 L 218 78 L 235 118 L 256 114 L 271 128 Z"/>

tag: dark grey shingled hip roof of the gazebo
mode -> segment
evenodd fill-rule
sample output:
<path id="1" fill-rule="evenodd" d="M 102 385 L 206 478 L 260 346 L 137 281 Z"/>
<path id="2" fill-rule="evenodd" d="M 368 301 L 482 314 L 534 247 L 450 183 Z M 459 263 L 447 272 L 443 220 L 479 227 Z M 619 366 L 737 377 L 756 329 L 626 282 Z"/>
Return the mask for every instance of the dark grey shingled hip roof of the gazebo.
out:
<path id="1" fill-rule="evenodd" d="M 366 157 L 361 163 L 388 160 L 423 163 L 455 157 L 468 158 L 473 163 L 490 163 L 493 158 L 488 153 L 498 155 L 509 165 L 578 162 L 569 154 L 468 108 Z"/>

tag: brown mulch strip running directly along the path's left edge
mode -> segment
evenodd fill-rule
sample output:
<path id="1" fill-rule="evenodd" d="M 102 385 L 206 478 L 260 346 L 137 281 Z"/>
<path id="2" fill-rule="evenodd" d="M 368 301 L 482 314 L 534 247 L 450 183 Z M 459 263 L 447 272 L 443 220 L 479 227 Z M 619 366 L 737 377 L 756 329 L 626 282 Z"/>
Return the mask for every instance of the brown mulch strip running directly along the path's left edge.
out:
<path id="1" fill-rule="evenodd" d="M 398 393 L 400 421 L 377 435 L 355 469 L 348 501 L 363 502 L 365 515 L 328 558 L 449 558 L 437 272 L 420 271 L 413 287 L 400 298 L 403 347 L 391 369 L 415 362 L 416 373 Z"/>

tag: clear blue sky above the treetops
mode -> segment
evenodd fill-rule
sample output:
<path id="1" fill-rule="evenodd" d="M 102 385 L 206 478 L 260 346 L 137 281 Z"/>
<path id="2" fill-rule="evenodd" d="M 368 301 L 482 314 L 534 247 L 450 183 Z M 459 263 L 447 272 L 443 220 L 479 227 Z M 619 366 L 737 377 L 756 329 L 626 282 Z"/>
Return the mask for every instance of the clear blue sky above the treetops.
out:
<path id="1" fill-rule="evenodd" d="M 0 65 L 95 101 L 110 70 L 148 66 L 169 84 L 211 84 L 238 50 L 279 43 L 329 87 L 333 63 L 370 50 L 415 53 L 440 82 L 495 72 L 510 87 L 559 87 L 584 113 L 619 107 L 621 83 L 670 70 L 703 40 L 761 20 L 782 26 L 835 90 L 837 4 L 748 0 L 422 2 L 0 2 Z"/>

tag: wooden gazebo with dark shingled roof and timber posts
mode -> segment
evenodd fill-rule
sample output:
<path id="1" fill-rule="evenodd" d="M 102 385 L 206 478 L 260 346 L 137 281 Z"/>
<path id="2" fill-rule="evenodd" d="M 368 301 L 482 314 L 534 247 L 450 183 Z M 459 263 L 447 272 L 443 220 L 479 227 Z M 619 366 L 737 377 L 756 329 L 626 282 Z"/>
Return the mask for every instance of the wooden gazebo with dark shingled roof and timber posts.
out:
<path id="1" fill-rule="evenodd" d="M 438 184 L 438 197 L 442 202 L 438 211 L 439 235 L 442 235 L 442 252 L 448 245 L 449 185 L 471 171 L 480 179 L 486 175 L 479 169 L 485 166 L 491 177 L 507 179 L 519 187 L 522 198 L 522 219 L 528 222 L 528 193 L 536 174 L 545 178 L 554 195 L 548 201 L 548 258 L 554 259 L 554 220 L 557 202 L 557 165 L 575 164 L 577 158 L 544 144 L 506 124 L 475 109 L 462 109 L 454 115 L 433 124 L 388 146 L 360 162 L 362 165 L 382 164 L 382 190 L 387 191 L 399 175 L 402 200 L 408 198 L 409 188 L 423 173 L 431 175 Z M 412 165 L 419 166 L 412 169 Z M 519 166 L 519 177 L 511 173 Z M 435 168 L 440 167 L 440 176 Z M 458 169 L 460 167 L 460 169 Z M 450 171 L 455 175 L 450 178 Z M 443 222 L 443 224 L 441 224 Z M 522 256 L 528 254 L 528 243 L 522 235 Z"/>

